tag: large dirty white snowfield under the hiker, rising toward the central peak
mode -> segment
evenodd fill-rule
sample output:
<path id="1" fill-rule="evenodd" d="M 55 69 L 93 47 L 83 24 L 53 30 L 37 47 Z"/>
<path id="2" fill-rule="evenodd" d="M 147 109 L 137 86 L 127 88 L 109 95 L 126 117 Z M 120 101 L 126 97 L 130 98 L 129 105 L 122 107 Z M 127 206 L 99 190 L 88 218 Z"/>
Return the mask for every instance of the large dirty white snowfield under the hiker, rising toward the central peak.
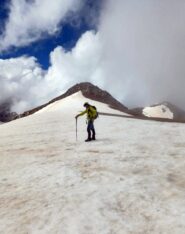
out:
<path id="1" fill-rule="evenodd" d="M 85 101 L 0 126 L 0 233 L 184 234 L 185 125 L 100 116 L 85 143 L 81 117 L 76 141 Z"/>

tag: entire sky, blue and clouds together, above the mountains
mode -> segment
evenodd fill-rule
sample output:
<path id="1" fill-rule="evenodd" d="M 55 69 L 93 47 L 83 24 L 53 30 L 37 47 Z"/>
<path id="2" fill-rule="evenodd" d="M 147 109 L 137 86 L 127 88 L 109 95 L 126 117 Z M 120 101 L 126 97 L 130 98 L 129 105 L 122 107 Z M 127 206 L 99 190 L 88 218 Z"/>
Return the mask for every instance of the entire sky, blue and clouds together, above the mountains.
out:
<path id="1" fill-rule="evenodd" d="M 129 108 L 185 109 L 184 0 L 0 0 L 0 104 L 18 113 L 79 82 Z"/>

